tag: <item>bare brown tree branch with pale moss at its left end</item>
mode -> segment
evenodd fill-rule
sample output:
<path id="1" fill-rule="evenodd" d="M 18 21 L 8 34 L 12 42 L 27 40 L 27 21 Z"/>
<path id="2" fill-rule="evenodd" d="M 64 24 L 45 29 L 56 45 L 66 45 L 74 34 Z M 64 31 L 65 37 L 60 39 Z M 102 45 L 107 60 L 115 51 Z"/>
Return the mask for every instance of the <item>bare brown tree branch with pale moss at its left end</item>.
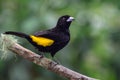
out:
<path id="1" fill-rule="evenodd" d="M 6 35 L 5 35 L 6 36 Z M 11 44 L 7 46 L 7 49 L 20 55 L 21 57 L 24 57 L 25 59 L 42 66 L 43 68 L 48 69 L 49 71 L 52 71 L 54 73 L 57 73 L 60 76 L 63 76 L 65 78 L 68 78 L 69 80 L 97 80 L 94 78 L 87 77 L 85 75 L 82 75 L 80 73 L 77 73 L 73 70 L 70 70 L 60 64 L 57 64 L 56 62 L 47 59 L 41 55 L 38 55 L 22 46 L 17 44 L 16 42 L 10 43 L 10 38 L 3 37 L 3 43 L 5 44 Z"/>

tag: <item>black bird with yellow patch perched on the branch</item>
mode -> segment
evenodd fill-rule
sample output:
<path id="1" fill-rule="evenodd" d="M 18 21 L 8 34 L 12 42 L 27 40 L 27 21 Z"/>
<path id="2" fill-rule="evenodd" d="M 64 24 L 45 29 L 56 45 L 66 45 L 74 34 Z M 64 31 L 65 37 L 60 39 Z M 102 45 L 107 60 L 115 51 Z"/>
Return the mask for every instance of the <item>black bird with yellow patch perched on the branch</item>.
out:
<path id="1" fill-rule="evenodd" d="M 25 38 L 40 52 L 49 52 L 54 57 L 57 51 L 68 44 L 70 40 L 69 27 L 73 20 L 74 18 L 69 15 L 61 16 L 54 28 L 36 32 L 34 35 L 14 31 L 7 31 L 4 34 Z"/>

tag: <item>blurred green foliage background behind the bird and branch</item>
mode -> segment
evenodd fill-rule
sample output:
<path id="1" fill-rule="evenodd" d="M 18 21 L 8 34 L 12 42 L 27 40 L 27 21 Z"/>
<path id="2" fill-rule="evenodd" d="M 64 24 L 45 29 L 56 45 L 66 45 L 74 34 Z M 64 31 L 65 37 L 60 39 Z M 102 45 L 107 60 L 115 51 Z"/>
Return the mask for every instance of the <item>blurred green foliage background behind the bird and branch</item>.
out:
<path id="1" fill-rule="evenodd" d="M 54 27 L 65 14 L 75 17 L 71 41 L 55 57 L 84 75 L 120 80 L 120 0 L 0 0 L 0 33 L 33 34 Z M 16 38 L 39 53 L 25 39 Z M 0 80 L 56 79 L 67 80 L 20 56 L 0 60 Z"/>

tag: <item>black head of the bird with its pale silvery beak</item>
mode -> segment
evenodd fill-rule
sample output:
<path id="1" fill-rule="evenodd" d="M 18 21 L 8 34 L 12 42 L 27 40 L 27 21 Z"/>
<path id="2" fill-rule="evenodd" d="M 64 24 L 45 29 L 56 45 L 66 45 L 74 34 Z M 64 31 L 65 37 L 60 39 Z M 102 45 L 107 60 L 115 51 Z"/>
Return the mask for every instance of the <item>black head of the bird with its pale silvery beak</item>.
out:
<path id="1" fill-rule="evenodd" d="M 58 19 L 58 22 L 57 22 L 57 26 L 56 27 L 59 27 L 59 28 L 69 28 L 71 22 L 74 20 L 73 17 L 69 16 L 69 15 L 64 15 L 64 16 L 61 16 L 59 19 Z"/>

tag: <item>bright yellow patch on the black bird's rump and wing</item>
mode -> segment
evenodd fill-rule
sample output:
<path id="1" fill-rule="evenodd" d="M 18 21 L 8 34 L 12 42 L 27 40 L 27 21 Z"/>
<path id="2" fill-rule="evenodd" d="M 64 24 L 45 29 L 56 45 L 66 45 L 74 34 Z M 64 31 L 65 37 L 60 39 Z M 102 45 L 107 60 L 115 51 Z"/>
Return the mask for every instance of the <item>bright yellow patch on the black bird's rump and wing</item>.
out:
<path id="1" fill-rule="evenodd" d="M 51 46 L 54 43 L 54 40 L 44 38 L 44 37 L 36 37 L 36 36 L 33 36 L 33 35 L 31 35 L 30 37 L 31 37 L 33 42 L 35 42 L 38 45 L 41 45 L 43 47 Z"/>

